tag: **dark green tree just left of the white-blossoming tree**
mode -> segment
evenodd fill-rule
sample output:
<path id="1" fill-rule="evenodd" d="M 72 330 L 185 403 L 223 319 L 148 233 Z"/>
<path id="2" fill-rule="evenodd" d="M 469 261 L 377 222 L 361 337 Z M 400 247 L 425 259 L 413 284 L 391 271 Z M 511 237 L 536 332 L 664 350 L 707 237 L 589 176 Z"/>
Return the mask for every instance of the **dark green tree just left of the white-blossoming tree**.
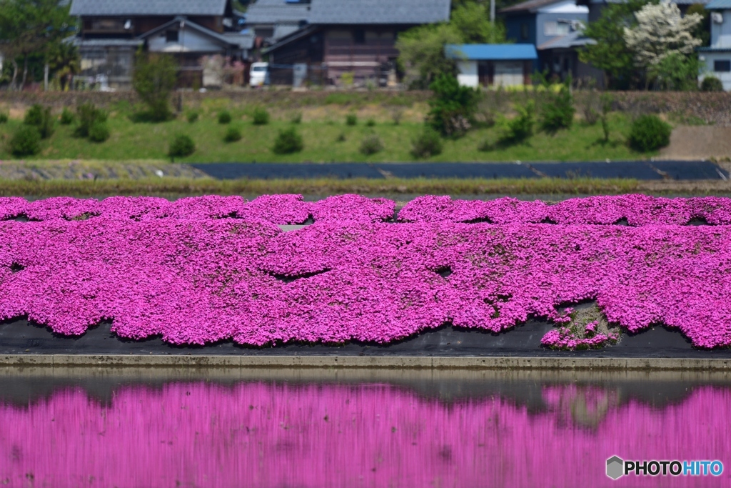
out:
<path id="1" fill-rule="evenodd" d="M 624 40 L 624 28 L 635 26 L 635 12 L 647 2 L 627 0 L 607 4 L 599 19 L 589 23 L 586 37 L 596 41 L 579 53 L 579 59 L 605 72 L 606 84 L 612 88 L 627 88 L 637 81 L 632 50 Z"/>

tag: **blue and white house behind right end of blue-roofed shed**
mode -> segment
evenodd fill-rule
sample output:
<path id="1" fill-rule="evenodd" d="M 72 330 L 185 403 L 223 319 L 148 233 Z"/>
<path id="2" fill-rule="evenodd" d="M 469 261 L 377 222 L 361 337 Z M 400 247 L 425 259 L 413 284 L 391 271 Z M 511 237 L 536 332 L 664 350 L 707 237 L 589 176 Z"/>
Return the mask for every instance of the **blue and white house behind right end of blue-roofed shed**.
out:
<path id="1" fill-rule="evenodd" d="M 578 59 L 580 48 L 594 42 L 583 37 L 589 20 L 589 8 L 576 0 L 529 0 L 500 10 L 507 38 L 536 46 L 540 72 L 563 80 L 595 78 L 600 72 Z"/>

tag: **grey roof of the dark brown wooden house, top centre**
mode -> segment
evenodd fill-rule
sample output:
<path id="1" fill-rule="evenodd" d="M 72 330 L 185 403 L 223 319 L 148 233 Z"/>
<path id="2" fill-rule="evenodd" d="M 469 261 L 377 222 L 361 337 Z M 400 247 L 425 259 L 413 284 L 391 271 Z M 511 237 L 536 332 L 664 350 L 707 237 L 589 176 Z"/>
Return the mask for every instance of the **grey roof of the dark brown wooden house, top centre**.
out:
<path id="1" fill-rule="evenodd" d="M 450 19 L 451 0 L 312 0 L 310 23 L 420 24 Z"/>

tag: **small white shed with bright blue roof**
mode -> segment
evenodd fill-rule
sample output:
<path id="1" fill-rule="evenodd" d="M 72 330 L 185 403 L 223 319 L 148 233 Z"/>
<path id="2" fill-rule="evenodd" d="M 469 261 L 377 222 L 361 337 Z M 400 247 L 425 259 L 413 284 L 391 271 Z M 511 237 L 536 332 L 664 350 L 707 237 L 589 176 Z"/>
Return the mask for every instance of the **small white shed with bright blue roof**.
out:
<path id="1" fill-rule="evenodd" d="M 532 44 L 450 44 L 448 58 L 457 60 L 462 86 L 523 86 L 531 83 L 538 59 Z"/>

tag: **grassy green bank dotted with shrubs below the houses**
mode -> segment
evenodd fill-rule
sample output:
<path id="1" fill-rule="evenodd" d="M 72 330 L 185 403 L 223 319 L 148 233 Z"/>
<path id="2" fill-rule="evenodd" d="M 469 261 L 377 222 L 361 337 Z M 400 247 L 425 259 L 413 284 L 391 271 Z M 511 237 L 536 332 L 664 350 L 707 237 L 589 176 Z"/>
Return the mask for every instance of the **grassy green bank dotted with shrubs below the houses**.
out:
<path id="1" fill-rule="evenodd" d="M 362 161 L 412 161 L 411 141 L 423 127 L 414 119 L 399 125 L 387 119 L 376 118 L 374 127 L 366 127 L 361 117 L 355 127 L 346 126 L 344 117 L 336 108 L 330 115 L 312 119 L 306 118 L 296 127 L 303 136 L 305 149 L 298 154 L 277 155 L 271 148 L 279 130 L 291 125 L 289 116 L 273 114 L 268 125 L 255 126 L 245 110 L 232 110 L 232 124 L 239 127 L 243 138 L 235 143 L 224 143 L 227 126 L 218 124 L 216 110 L 205 110 L 200 119 L 189 124 L 183 116 L 162 124 L 133 123 L 129 110 L 113 110 L 108 121 L 111 138 L 105 143 L 91 143 L 75 138 L 73 126 L 56 125 L 53 136 L 42 142 L 42 151 L 31 159 L 165 159 L 167 146 L 173 135 L 190 135 L 197 146 L 191 157 L 181 162 L 362 162 Z M 640 154 L 629 149 L 624 140 L 629 130 L 628 118 L 613 113 L 610 121 L 609 143 L 602 143 L 602 129 L 599 124 L 586 126 L 577 121 L 569 130 L 548 135 L 537 132 L 526 143 L 508 146 L 492 151 L 480 151 L 482 141 L 489 143 L 499 136 L 499 129 L 473 129 L 466 136 L 456 140 L 444 140 L 444 151 L 429 161 L 536 161 L 536 160 L 604 160 L 638 159 L 652 154 Z M 0 159 L 12 159 L 8 141 L 20 126 L 12 119 L 0 125 Z M 381 138 L 385 149 L 371 156 L 360 154 L 360 143 L 366 135 L 374 132 Z M 345 140 L 338 142 L 343 134 Z M 28 159 L 28 158 L 26 158 Z"/>

